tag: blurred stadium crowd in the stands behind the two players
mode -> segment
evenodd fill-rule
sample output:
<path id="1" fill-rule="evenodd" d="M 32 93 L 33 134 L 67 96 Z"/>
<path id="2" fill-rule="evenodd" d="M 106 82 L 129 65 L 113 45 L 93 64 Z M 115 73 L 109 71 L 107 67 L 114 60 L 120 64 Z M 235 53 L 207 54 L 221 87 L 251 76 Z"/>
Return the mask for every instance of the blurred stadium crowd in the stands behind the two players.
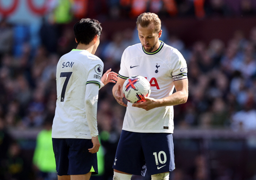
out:
<path id="1" fill-rule="evenodd" d="M 202 17 L 200 1 L 198 11 L 192 1 L 183 0 L 177 1 L 176 10 L 169 12 L 163 8 L 167 1 L 139 1 L 147 3 L 146 10 L 158 7 L 151 11 L 159 13 L 160 17 Z M 107 3 L 108 8 L 102 9 L 104 6 L 97 2 Z M 170 2 L 175 4 L 176 1 Z M 234 1 L 206 0 L 204 13 L 206 16 L 255 15 L 255 1 L 236 1 L 238 8 L 229 6 L 230 2 Z M 93 8 L 87 11 L 90 17 L 125 19 L 137 16 L 128 0 L 98 0 L 92 5 Z M 245 38 L 242 31 L 236 31 L 226 44 L 220 39 L 212 39 L 209 44 L 198 41 L 191 47 L 169 34 L 167 28 L 162 29 L 160 40 L 177 48 L 188 64 L 189 98 L 187 103 L 174 106 L 175 128 L 256 130 L 256 27 L 251 29 L 249 38 Z M 63 54 L 76 48 L 74 33 L 69 26 L 52 26 L 45 21 L 37 38 L 41 43 L 33 46 L 26 26 L 11 25 L 5 20 L 0 23 L 1 180 L 37 177 L 38 168 L 23 157 L 19 142 L 11 137 L 8 129 L 43 129 L 53 120 L 57 100 L 56 65 Z M 95 55 L 104 62 L 104 71 L 112 68 L 118 73 L 123 51 L 135 43 L 139 43 L 136 29 L 116 32 L 112 39 L 103 33 Z M 113 98 L 112 86 L 108 84 L 99 91 L 97 120 L 105 167 L 103 176 L 93 177 L 95 179 L 111 179 L 113 176 L 112 164 L 125 114 L 125 107 Z M 203 171 L 200 167 L 204 166 L 204 157 L 198 156 L 195 161 L 196 167 Z M 182 173 L 177 169 L 173 179 L 204 180 L 203 172 L 187 173 L 186 176 Z M 44 179 L 44 175 L 38 177 Z"/>

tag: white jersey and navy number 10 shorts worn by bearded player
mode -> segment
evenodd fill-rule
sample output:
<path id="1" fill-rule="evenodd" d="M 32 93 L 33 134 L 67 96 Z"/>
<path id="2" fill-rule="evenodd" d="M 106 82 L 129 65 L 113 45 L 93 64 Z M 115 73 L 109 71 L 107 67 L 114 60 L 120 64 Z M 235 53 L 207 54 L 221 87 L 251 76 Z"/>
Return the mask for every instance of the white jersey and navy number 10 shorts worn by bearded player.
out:
<path id="1" fill-rule="evenodd" d="M 154 52 L 146 52 L 142 44 L 125 49 L 118 73 L 127 79 L 140 75 L 150 82 L 151 98 L 161 99 L 173 93 L 174 81 L 187 78 L 187 63 L 181 53 L 161 42 Z M 146 111 L 128 107 L 113 168 L 133 175 L 149 175 L 173 171 L 173 106 Z M 138 155 L 139 154 L 139 155 Z"/>

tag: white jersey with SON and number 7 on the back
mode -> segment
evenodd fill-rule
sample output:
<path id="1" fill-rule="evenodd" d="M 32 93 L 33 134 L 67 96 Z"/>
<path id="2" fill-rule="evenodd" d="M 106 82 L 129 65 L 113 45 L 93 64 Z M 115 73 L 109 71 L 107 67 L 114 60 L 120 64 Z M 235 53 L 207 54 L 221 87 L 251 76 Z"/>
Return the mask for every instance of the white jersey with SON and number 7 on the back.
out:
<path id="1" fill-rule="evenodd" d="M 100 86 L 103 62 L 86 50 L 72 50 L 57 64 L 53 138 L 91 139 L 85 111 L 86 84 Z"/>

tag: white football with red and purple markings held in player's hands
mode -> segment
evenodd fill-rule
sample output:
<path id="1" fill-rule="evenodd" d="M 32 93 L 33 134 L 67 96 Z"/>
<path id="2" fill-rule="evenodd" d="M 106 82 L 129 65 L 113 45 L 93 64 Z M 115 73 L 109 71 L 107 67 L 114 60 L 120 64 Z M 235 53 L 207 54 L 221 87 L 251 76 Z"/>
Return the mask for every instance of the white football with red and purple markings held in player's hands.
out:
<path id="1" fill-rule="evenodd" d="M 145 102 L 144 96 L 149 97 L 151 86 L 148 80 L 142 76 L 132 76 L 124 82 L 124 98 L 131 103 Z"/>

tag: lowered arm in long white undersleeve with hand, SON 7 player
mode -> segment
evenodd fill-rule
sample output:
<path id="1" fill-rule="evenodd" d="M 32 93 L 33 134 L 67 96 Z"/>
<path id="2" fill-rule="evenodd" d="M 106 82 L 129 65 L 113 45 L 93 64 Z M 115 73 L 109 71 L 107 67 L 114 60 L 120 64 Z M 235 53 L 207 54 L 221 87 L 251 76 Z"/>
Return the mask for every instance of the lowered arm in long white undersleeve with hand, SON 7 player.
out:
<path id="1" fill-rule="evenodd" d="M 85 91 L 85 113 L 88 126 L 91 132 L 91 141 L 93 148 L 88 149 L 91 153 L 96 153 L 99 150 L 98 128 L 97 128 L 97 104 L 98 104 L 99 85 L 96 83 L 88 83 Z"/>

